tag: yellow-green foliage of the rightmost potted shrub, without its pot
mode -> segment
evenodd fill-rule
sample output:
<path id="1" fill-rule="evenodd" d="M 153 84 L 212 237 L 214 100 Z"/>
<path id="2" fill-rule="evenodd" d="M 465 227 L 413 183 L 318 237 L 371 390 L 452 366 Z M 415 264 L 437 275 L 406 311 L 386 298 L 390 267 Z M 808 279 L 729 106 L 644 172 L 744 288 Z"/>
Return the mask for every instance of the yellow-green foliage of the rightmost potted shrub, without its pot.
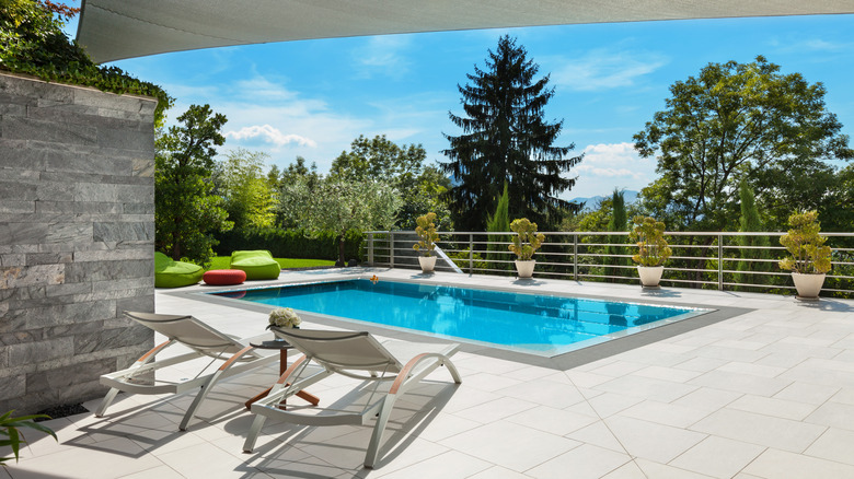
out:
<path id="1" fill-rule="evenodd" d="M 818 211 L 793 213 L 788 217 L 792 229 L 780 237 L 780 244 L 792 254 L 780 261 L 782 269 L 801 274 L 822 274 L 830 271 L 830 256 L 833 250 L 824 246 L 827 237 L 821 236 Z"/>

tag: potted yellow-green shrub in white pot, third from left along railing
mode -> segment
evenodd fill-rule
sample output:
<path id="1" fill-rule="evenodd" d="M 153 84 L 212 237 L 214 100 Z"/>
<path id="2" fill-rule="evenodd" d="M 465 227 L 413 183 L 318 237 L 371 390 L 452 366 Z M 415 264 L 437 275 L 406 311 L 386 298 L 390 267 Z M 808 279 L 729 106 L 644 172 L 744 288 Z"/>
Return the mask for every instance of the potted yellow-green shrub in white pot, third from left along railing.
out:
<path id="1" fill-rule="evenodd" d="M 673 253 L 665 240 L 665 223 L 649 217 L 635 217 L 632 223 L 628 237 L 637 242 L 637 254 L 632 259 L 637 262 L 641 284 L 645 288 L 657 287 L 665 272 L 665 261 Z"/>

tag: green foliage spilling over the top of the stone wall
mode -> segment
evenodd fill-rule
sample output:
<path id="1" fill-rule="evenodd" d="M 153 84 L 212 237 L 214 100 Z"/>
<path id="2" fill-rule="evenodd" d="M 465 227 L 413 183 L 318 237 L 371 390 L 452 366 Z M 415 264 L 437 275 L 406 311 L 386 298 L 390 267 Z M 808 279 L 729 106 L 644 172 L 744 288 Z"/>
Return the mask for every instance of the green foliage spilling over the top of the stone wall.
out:
<path id="1" fill-rule="evenodd" d="M 95 65 L 62 32 L 77 12 L 47 0 L 0 0 L 0 70 L 105 92 L 153 96 L 158 98 L 154 124 L 162 126 L 173 98 L 162 87 L 139 81 L 120 68 Z"/>

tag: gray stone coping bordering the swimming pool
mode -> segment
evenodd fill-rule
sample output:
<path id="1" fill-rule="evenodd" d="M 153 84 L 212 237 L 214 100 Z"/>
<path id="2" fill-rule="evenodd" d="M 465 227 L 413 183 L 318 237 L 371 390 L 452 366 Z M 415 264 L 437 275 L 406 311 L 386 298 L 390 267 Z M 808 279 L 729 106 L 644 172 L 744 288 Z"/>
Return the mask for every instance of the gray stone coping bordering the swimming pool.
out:
<path id="1" fill-rule="evenodd" d="M 372 271 L 363 270 L 362 272 L 356 272 L 356 271 L 354 272 L 355 274 L 350 272 L 345 272 L 339 274 L 336 274 L 335 272 L 330 272 L 328 277 L 322 280 L 309 279 L 309 278 L 285 279 L 285 280 L 279 279 L 274 281 L 265 281 L 263 284 L 259 283 L 257 285 L 253 285 L 253 284 L 247 285 L 245 283 L 240 285 L 234 285 L 234 287 L 204 285 L 204 287 L 195 288 L 192 291 L 175 291 L 175 292 L 164 291 L 164 293 L 170 295 L 181 296 L 192 301 L 212 303 L 220 306 L 231 307 L 234 309 L 252 311 L 255 313 L 266 314 L 272 308 L 274 308 L 274 306 L 267 304 L 261 304 L 261 303 L 240 302 L 240 300 L 217 296 L 211 293 L 221 293 L 227 291 L 242 291 L 249 289 L 276 288 L 280 285 L 310 283 L 310 282 L 369 279 Z M 408 279 L 395 277 L 395 278 L 391 278 L 390 280 L 396 282 L 407 282 L 407 283 L 416 283 L 416 284 L 439 284 L 439 283 L 448 284 L 453 282 L 452 279 L 448 277 L 436 278 L 430 274 L 424 274 L 422 276 L 422 278 L 418 278 L 418 276 L 416 276 Z M 493 285 L 493 284 L 472 285 L 468 283 L 458 283 L 458 284 L 449 284 L 449 285 L 455 285 L 459 288 L 468 288 L 468 289 L 483 289 L 488 291 L 501 291 L 501 292 L 527 293 L 527 294 L 533 294 L 533 292 L 520 290 L 519 287 L 536 285 L 535 284 L 536 280 L 515 280 L 513 282 L 516 282 L 517 284 L 501 287 L 501 285 Z M 647 299 L 647 297 L 644 297 L 643 300 L 628 300 L 628 299 L 614 299 L 614 297 L 597 295 L 597 294 L 568 293 L 568 292 L 556 292 L 556 291 L 543 291 L 538 294 L 572 296 L 572 297 L 590 299 L 590 300 L 599 300 L 599 301 L 616 301 L 616 302 L 633 303 L 633 304 L 649 304 L 656 306 L 696 308 L 696 309 L 706 309 L 706 312 L 700 313 L 697 315 L 684 319 L 671 320 L 671 322 L 663 323 L 661 325 L 647 327 L 634 332 L 628 332 L 623 336 L 613 337 L 608 340 L 580 347 L 578 349 L 564 352 L 554 357 L 544 357 L 534 353 L 526 353 L 518 350 L 493 348 L 482 343 L 466 342 L 462 338 L 459 341 L 454 341 L 451 339 L 430 335 L 429 332 L 424 332 L 424 334 L 411 332 L 408 330 L 403 330 L 401 328 L 386 327 L 383 325 L 374 325 L 358 319 L 337 319 L 337 317 L 335 316 L 328 316 L 324 314 L 302 312 L 302 311 L 300 312 L 300 315 L 304 320 L 327 326 L 327 327 L 353 330 L 355 329 L 354 325 L 358 325 L 359 330 L 366 330 L 373 335 L 401 339 L 406 341 L 443 342 L 443 343 L 459 342 L 461 344 L 461 350 L 469 353 L 480 354 L 480 355 L 485 355 L 485 357 L 496 358 L 496 359 L 503 359 L 506 361 L 518 362 L 527 365 L 536 365 L 536 366 L 549 367 L 557 371 L 566 371 L 576 366 L 580 366 L 582 364 L 587 364 L 603 358 L 608 358 L 614 354 L 619 354 L 625 351 L 641 348 L 643 346 L 647 346 L 660 341 L 662 339 L 671 338 L 673 336 L 678 336 L 683 332 L 688 332 L 697 328 L 713 325 L 715 323 L 719 323 L 722 320 L 741 316 L 743 314 L 754 311 L 753 308 L 736 307 L 736 306 L 719 306 L 719 305 L 685 306 L 679 303 L 668 302 L 666 300 Z"/>

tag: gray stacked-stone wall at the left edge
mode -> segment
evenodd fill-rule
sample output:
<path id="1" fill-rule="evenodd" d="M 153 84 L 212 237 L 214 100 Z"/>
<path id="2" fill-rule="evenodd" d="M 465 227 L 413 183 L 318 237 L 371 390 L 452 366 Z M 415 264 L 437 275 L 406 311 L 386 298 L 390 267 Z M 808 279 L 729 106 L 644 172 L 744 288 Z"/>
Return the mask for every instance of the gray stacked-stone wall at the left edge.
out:
<path id="1" fill-rule="evenodd" d="M 0 72 L 0 413 L 105 393 L 153 346 L 157 102 Z"/>

